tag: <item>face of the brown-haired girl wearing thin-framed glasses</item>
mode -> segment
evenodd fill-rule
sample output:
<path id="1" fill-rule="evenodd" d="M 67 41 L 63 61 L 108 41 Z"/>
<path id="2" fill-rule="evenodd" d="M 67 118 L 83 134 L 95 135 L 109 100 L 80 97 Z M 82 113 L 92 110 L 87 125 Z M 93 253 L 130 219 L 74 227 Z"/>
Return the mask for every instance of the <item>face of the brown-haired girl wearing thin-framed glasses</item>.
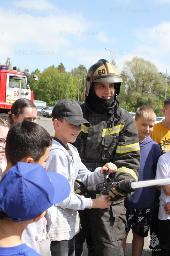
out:
<path id="1" fill-rule="evenodd" d="M 13 118 L 15 123 L 23 121 L 23 119 L 21 117 L 24 118 L 24 119 L 31 117 L 32 122 L 36 123 L 36 120 L 33 121 L 33 118 L 37 117 L 37 109 L 29 107 L 29 108 L 24 108 L 23 113 L 19 114 L 19 116 L 15 116 L 14 114 L 12 114 L 12 118 Z"/>

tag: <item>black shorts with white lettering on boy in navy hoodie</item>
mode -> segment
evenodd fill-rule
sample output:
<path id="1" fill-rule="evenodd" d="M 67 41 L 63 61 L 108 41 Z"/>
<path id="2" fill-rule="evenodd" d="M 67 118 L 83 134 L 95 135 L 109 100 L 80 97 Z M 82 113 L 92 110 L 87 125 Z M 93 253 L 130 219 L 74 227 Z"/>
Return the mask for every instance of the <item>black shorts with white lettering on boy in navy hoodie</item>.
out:
<path id="1" fill-rule="evenodd" d="M 152 209 L 126 209 L 126 233 L 132 228 L 141 237 L 148 236 Z"/>

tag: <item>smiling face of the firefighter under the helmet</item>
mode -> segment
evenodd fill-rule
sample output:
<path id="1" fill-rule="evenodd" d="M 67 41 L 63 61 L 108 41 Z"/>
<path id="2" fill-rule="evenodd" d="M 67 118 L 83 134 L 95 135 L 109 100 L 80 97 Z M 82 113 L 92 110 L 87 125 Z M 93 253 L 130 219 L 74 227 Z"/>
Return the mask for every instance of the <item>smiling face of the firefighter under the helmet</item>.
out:
<path id="1" fill-rule="evenodd" d="M 93 85 L 93 89 L 99 98 L 105 100 L 110 99 L 115 92 L 114 83 L 97 82 Z"/>

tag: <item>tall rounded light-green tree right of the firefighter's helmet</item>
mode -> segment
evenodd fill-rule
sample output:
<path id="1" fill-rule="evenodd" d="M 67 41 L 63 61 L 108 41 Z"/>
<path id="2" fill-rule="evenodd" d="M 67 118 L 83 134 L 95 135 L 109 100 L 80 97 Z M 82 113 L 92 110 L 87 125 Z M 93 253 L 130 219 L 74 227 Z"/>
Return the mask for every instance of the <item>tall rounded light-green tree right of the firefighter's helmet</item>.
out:
<path id="1" fill-rule="evenodd" d="M 122 73 L 129 110 L 136 111 L 140 106 L 149 105 L 156 114 L 161 114 L 165 79 L 157 67 L 148 60 L 134 57 L 125 62 Z"/>

